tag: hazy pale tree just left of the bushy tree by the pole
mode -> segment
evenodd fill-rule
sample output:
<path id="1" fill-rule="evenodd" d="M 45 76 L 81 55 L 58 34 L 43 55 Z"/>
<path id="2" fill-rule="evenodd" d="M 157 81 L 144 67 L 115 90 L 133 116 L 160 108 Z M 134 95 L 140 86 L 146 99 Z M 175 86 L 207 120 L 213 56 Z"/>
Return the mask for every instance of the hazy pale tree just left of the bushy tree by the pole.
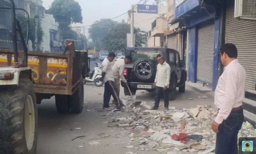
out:
<path id="1" fill-rule="evenodd" d="M 95 46 L 100 49 L 104 48 L 102 39 L 107 36 L 109 30 L 115 24 L 116 22 L 111 19 L 100 19 L 93 22 L 93 24 L 89 28 L 89 34 Z"/>

